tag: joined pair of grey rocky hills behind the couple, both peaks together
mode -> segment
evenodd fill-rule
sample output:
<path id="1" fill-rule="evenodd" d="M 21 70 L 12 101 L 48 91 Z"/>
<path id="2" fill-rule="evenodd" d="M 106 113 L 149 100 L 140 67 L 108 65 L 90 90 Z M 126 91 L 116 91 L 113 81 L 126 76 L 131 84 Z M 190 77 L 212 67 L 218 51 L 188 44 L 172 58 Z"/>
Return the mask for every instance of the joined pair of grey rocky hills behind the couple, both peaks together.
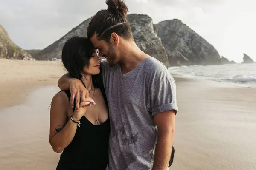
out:
<path id="1" fill-rule="evenodd" d="M 178 65 L 215 65 L 227 63 L 220 58 L 218 51 L 180 20 L 166 20 L 153 24 L 148 15 L 130 14 L 134 40 L 145 53 L 157 58 L 166 66 Z M 87 36 L 89 19 L 73 28 L 66 35 L 43 50 L 33 53 L 38 60 L 61 59 L 64 43 L 73 36 Z"/>

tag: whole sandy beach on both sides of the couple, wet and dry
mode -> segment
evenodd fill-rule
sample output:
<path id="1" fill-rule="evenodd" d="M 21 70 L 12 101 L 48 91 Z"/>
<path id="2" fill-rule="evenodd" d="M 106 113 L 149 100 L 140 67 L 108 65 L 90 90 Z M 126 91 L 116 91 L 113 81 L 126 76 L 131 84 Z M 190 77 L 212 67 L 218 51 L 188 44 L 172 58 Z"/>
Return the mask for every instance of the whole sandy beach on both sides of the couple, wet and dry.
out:
<path id="1" fill-rule="evenodd" d="M 49 105 L 59 62 L 0 59 L 0 170 L 55 170 Z M 175 76 L 175 160 L 170 170 L 256 169 L 256 89 Z"/>

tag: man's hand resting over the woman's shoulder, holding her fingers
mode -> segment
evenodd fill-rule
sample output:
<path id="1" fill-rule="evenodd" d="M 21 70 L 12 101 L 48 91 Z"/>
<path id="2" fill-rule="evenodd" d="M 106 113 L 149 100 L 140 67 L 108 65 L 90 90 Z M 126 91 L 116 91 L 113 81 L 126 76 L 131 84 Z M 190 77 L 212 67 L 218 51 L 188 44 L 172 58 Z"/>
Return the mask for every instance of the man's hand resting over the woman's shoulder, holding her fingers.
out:
<path id="1" fill-rule="evenodd" d="M 84 84 L 79 79 L 70 79 L 70 104 L 74 107 L 74 100 L 76 99 L 76 111 L 79 111 L 80 102 L 85 102 L 89 98 L 89 91 L 84 87 Z"/>

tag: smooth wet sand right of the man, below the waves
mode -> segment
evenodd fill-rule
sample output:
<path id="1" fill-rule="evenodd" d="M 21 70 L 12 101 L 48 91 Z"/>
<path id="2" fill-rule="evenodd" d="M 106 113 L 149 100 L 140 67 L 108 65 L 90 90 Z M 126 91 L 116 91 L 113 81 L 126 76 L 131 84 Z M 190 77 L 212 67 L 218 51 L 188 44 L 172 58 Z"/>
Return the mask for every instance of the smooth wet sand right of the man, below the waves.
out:
<path id="1" fill-rule="evenodd" d="M 172 170 L 255 170 L 256 89 L 179 79 Z"/>

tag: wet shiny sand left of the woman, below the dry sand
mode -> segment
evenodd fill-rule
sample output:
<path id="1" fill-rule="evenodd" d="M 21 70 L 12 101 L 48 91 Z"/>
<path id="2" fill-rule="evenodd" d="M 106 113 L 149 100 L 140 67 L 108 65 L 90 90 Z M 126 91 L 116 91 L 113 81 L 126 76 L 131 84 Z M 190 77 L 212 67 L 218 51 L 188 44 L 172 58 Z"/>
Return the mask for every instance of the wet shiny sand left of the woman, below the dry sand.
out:
<path id="1" fill-rule="evenodd" d="M 56 86 L 33 90 L 26 103 L 0 110 L 0 170 L 54 170 L 49 106 Z"/>

